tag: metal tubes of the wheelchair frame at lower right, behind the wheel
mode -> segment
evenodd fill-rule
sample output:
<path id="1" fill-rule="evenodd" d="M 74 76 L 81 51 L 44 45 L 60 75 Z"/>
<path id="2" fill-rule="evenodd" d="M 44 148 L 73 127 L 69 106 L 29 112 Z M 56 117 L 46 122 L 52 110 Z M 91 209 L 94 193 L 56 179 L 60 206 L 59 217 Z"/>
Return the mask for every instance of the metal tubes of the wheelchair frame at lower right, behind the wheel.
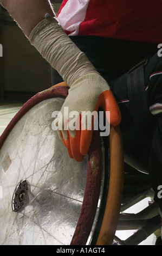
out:
<path id="1" fill-rule="evenodd" d="M 146 240 L 148 236 L 155 233 L 161 228 L 161 217 L 159 215 L 159 208 L 153 202 L 154 192 L 152 189 L 135 196 L 129 202 L 121 205 L 121 212 L 116 230 L 135 230 L 134 234 L 129 236 L 126 240 L 121 240 L 118 236 L 114 236 L 114 243 L 118 245 L 139 245 Z M 141 200 L 148 198 L 148 206 L 137 214 L 124 213 L 129 207 L 141 202 Z M 151 201 L 149 201 L 151 198 Z"/>

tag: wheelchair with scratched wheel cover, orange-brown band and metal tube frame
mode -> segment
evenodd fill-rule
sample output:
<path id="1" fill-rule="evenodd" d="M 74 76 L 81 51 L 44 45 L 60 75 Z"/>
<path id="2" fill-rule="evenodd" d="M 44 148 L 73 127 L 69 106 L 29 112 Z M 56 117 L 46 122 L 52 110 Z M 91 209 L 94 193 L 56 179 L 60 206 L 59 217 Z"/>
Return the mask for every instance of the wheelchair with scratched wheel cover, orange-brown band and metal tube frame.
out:
<path id="1" fill-rule="evenodd" d="M 37 93 L 0 137 L 0 243 L 139 245 L 161 227 L 147 170 L 123 152 L 119 127 L 94 131 L 83 161 L 70 159 L 51 129 L 67 95 L 64 82 Z M 146 209 L 125 213 L 145 197 Z M 115 235 L 129 229 L 126 240 Z"/>

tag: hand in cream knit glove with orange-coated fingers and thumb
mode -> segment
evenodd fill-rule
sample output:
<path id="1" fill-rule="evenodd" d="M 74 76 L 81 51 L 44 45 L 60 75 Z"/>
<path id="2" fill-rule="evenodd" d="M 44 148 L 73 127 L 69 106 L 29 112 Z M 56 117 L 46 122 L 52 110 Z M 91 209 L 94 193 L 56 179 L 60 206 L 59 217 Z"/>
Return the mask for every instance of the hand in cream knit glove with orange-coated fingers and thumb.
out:
<path id="1" fill-rule="evenodd" d="M 72 84 L 61 112 L 55 119 L 62 142 L 69 156 L 76 161 L 82 161 L 88 153 L 94 126 L 92 112 L 97 112 L 99 107 L 106 113 L 110 112 L 108 121 L 112 126 L 120 124 L 119 106 L 107 82 L 94 72 L 80 77 Z M 87 111 L 89 114 L 85 121 Z M 108 119 L 108 115 L 106 117 Z"/>

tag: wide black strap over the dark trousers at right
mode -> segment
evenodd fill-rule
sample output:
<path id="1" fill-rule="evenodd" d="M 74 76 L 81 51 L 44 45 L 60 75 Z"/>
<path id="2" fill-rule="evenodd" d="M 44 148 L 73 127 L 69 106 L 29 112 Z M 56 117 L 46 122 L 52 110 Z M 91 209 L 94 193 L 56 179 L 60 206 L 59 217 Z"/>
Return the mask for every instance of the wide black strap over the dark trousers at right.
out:
<path id="1" fill-rule="evenodd" d="M 144 66 L 148 63 L 143 60 L 127 74 L 127 89 L 129 97 L 130 111 L 134 117 L 134 121 L 143 125 L 152 119 L 152 114 L 148 108 L 145 90 Z"/>

